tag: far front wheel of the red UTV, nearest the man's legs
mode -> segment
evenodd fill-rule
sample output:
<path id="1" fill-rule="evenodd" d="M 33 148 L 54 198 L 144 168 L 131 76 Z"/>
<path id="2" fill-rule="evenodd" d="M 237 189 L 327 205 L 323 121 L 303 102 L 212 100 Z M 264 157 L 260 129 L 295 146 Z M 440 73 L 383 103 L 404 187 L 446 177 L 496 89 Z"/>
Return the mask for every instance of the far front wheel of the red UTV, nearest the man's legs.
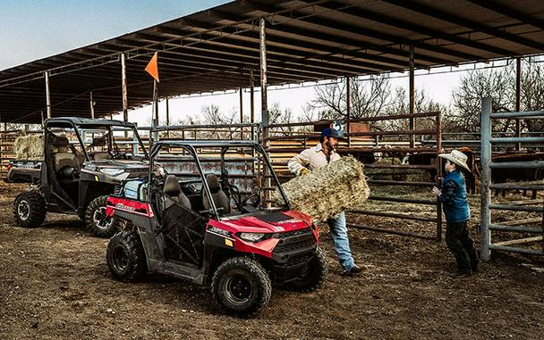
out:
<path id="1" fill-rule="evenodd" d="M 301 276 L 285 285 L 297 292 L 310 293 L 319 288 L 327 278 L 328 266 L 325 255 L 318 248 L 308 265 L 302 270 Z"/>

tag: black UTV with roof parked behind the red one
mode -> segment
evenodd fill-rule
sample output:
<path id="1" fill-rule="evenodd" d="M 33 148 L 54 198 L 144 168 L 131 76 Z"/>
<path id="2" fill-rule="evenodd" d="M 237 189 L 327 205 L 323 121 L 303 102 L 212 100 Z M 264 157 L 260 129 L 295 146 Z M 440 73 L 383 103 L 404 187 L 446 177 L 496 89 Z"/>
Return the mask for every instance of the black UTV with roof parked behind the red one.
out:
<path id="1" fill-rule="evenodd" d="M 107 196 L 123 180 L 149 171 L 149 156 L 134 124 L 52 118 L 45 121 L 43 144 L 39 166 L 21 170 L 30 187 L 15 198 L 15 221 L 38 227 L 47 212 L 74 214 L 95 236 L 114 235 L 117 228 L 106 217 Z M 17 178 L 17 169 L 10 175 Z"/>

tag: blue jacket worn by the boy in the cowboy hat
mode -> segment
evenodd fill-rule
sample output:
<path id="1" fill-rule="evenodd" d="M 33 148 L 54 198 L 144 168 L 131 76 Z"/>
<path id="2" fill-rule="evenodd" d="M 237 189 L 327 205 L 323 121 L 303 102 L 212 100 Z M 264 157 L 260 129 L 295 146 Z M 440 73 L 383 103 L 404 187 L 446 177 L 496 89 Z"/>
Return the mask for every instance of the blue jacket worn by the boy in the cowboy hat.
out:
<path id="1" fill-rule="evenodd" d="M 440 201 L 447 222 L 463 222 L 471 217 L 466 185 L 460 170 L 454 170 L 442 180 Z"/>

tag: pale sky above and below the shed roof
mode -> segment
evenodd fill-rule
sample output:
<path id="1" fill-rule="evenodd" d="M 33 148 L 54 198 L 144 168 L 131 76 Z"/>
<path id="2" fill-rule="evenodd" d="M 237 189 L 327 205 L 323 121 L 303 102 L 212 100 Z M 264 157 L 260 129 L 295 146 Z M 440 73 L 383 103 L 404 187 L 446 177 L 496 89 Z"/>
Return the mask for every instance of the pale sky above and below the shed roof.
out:
<path id="1" fill-rule="evenodd" d="M 0 70 L 25 62 L 32 62 L 51 55 L 88 46 L 125 33 L 144 29 L 173 20 L 192 12 L 224 4 L 218 0 L 1 0 L 0 12 Z M 160 61 L 159 61 L 160 68 Z M 423 75 L 416 72 L 417 89 L 424 89 L 433 100 L 447 104 L 451 90 L 458 84 L 459 73 Z M 408 78 L 403 75 L 392 80 L 393 87 L 408 88 Z M 130 96 L 130 93 L 129 93 Z M 278 103 L 291 109 L 295 115 L 315 96 L 313 87 L 289 89 L 270 88 L 268 105 Z M 204 105 L 217 104 L 222 112 L 239 112 L 239 94 L 207 95 L 169 100 L 172 121 L 187 115 L 197 116 Z M 243 95 L 243 111 L 249 115 L 250 95 Z M 260 94 L 255 95 L 255 107 L 260 108 Z M 160 120 L 164 120 L 166 106 L 159 104 Z M 259 110 L 256 111 L 259 117 Z M 115 116 L 119 119 L 120 115 Z M 149 126 L 151 107 L 129 112 L 129 120 L 140 126 Z"/>

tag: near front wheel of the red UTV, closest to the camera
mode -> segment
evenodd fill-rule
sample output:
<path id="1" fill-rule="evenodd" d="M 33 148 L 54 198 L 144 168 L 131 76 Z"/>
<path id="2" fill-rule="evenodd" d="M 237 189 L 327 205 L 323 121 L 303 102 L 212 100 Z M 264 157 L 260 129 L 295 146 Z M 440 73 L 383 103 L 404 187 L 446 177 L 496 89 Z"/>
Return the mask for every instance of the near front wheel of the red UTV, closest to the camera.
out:
<path id="1" fill-rule="evenodd" d="M 270 301 L 272 284 L 259 262 L 237 257 L 217 268 L 211 291 L 219 307 L 241 318 L 251 318 Z"/>

